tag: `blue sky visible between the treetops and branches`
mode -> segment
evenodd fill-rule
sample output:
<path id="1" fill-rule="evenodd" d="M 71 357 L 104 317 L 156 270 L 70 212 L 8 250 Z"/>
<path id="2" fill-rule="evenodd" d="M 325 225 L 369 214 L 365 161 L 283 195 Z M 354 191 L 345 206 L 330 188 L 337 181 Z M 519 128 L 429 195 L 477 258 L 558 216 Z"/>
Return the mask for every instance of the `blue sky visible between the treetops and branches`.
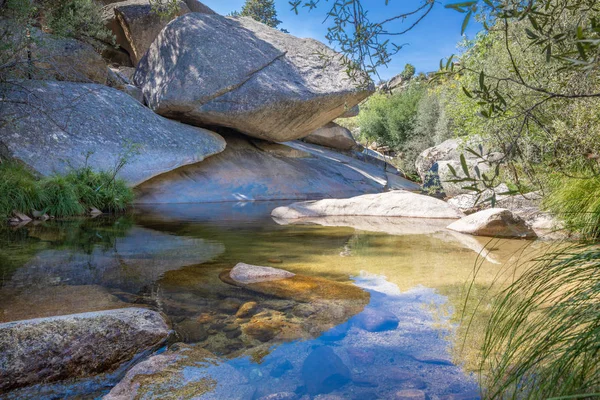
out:
<path id="1" fill-rule="evenodd" d="M 234 10 L 240 10 L 244 0 L 201 0 L 207 6 L 219 14 L 225 15 Z M 389 79 L 400 73 L 406 63 L 413 64 L 417 72 L 436 71 L 441 58 L 457 53 L 456 44 L 461 40 L 460 27 L 463 15 L 454 10 L 444 8 L 444 4 L 456 0 L 440 0 L 436 3 L 433 11 L 412 31 L 398 38 L 397 44 L 407 44 L 393 59 L 388 68 L 382 68 L 379 73 L 383 79 Z M 323 19 L 327 5 L 330 2 L 321 1 L 316 10 L 302 10 L 296 15 L 288 3 L 288 0 L 275 0 L 278 18 L 283 21 L 281 28 L 285 28 L 294 36 L 311 37 L 328 44 L 325 40 L 327 22 Z M 398 15 L 403 11 L 409 11 L 418 4 L 420 0 L 390 0 L 385 5 L 385 0 L 363 0 L 363 6 L 369 10 L 369 18 L 373 21 L 381 21 L 392 15 Z M 404 29 L 409 21 L 398 22 L 394 27 L 397 30 Z M 475 23 L 471 23 L 467 29 L 467 36 L 473 37 L 478 30 Z M 393 30 L 393 28 L 390 28 Z"/>

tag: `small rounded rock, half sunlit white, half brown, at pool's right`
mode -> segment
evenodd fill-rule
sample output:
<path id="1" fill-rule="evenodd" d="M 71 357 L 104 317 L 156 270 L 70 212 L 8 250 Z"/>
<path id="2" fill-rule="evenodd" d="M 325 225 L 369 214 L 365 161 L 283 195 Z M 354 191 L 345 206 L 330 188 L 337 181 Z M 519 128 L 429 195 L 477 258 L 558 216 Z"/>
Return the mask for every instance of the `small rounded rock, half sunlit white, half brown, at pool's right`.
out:
<path id="1" fill-rule="evenodd" d="M 476 236 L 533 239 L 537 235 L 527 223 L 505 208 L 490 208 L 448 225 L 453 231 Z"/>

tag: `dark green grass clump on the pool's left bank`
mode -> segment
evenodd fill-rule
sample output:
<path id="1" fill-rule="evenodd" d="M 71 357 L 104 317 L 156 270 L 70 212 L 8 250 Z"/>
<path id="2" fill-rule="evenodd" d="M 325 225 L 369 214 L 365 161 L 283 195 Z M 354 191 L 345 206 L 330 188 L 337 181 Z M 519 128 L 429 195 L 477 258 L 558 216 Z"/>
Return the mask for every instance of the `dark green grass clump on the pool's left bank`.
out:
<path id="1" fill-rule="evenodd" d="M 0 163 L 0 217 L 13 211 L 31 215 L 33 210 L 54 217 L 123 211 L 133 202 L 133 191 L 114 174 L 91 168 L 74 169 L 66 175 L 38 178 L 24 166 Z"/>

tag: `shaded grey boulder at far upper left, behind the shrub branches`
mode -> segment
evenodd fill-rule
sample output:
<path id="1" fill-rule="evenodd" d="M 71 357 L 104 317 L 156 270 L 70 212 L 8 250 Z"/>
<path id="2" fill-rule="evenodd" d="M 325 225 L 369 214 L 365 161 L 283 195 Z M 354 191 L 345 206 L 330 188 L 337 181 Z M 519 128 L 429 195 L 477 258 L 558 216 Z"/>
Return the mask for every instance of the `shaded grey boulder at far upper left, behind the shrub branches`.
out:
<path id="1" fill-rule="evenodd" d="M 2 40 L 21 49 L 14 65 L 3 67 L 9 78 L 106 83 L 106 62 L 91 45 L 30 28 L 31 44 L 24 46 L 28 39 L 22 27 L 9 20 L 0 21 L 0 27 L 8 32 Z"/>

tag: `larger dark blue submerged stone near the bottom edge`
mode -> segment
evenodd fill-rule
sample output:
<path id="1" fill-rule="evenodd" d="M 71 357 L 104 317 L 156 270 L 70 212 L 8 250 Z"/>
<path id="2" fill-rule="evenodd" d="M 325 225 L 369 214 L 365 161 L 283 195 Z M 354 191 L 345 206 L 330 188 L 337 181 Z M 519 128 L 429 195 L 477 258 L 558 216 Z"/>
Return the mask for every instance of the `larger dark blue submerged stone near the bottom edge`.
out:
<path id="1" fill-rule="evenodd" d="M 319 347 L 302 365 L 302 378 L 311 395 L 330 393 L 350 382 L 350 370 L 330 347 Z"/>

